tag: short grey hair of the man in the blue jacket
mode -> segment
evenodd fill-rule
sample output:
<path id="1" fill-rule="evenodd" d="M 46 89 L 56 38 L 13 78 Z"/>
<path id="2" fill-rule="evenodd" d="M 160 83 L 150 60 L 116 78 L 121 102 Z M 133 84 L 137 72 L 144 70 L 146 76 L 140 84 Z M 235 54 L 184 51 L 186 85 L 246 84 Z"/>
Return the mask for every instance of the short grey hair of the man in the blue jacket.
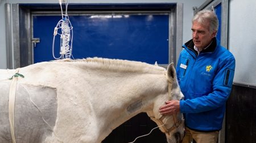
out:
<path id="1" fill-rule="evenodd" d="M 218 18 L 217 15 L 212 10 L 201 10 L 196 13 L 192 19 L 192 23 L 197 21 L 200 24 L 205 24 L 205 20 L 208 20 L 210 23 L 209 31 L 210 33 L 218 31 Z"/>

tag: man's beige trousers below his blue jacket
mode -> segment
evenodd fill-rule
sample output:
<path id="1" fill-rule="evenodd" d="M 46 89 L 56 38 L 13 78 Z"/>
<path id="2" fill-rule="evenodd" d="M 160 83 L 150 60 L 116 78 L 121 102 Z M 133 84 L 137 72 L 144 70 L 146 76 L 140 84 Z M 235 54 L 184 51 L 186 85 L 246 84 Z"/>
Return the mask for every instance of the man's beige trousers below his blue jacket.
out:
<path id="1" fill-rule="evenodd" d="M 218 131 L 197 132 L 186 127 L 185 136 L 182 143 L 192 143 L 193 139 L 196 141 L 196 143 L 217 143 Z"/>

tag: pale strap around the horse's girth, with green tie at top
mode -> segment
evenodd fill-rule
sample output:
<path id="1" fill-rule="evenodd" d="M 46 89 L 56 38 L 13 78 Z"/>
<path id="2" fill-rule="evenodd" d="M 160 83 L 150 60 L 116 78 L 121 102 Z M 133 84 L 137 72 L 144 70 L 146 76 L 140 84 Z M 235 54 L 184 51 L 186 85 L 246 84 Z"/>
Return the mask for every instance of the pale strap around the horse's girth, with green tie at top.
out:
<path id="1" fill-rule="evenodd" d="M 10 122 L 10 130 L 11 130 L 11 139 L 13 143 L 16 143 L 15 135 L 14 135 L 14 110 L 15 110 L 15 96 L 16 96 L 16 87 L 18 76 L 24 77 L 19 74 L 19 68 L 16 69 L 15 75 L 13 75 L 10 80 L 10 90 L 9 90 L 9 122 Z"/>

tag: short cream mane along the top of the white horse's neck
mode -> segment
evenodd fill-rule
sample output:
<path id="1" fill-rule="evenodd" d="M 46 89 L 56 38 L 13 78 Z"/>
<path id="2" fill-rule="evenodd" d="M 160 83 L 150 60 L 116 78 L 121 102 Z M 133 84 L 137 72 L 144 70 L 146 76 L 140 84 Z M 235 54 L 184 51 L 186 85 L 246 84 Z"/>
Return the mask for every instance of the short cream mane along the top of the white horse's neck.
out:
<path id="1" fill-rule="evenodd" d="M 131 72 L 147 72 L 147 73 L 163 73 L 166 69 L 152 64 L 137 62 L 123 59 L 108 59 L 108 58 L 86 58 L 86 59 L 62 59 L 53 60 L 57 62 L 71 62 L 71 63 L 86 63 L 93 68 L 100 68 L 102 70 L 114 71 L 131 71 Z"/>

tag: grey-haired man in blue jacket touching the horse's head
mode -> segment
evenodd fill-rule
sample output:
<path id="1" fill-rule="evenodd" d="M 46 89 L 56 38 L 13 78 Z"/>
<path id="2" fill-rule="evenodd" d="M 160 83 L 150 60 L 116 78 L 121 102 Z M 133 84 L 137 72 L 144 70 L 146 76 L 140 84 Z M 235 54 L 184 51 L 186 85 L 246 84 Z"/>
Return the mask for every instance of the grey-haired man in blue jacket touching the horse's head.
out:
<path id="1" fill-rule="evenodd" d="M 167 101 L 159 111 L 183 113 L 183 142 L 193 138 L 197 143 L 216 143 L 232 89 L 235 59 L 216 39 L 218 19 L 213 11 L 197 12 L 191 30 L 192 40 L 183 45 L 176 67 L 184 100 Z"/>

